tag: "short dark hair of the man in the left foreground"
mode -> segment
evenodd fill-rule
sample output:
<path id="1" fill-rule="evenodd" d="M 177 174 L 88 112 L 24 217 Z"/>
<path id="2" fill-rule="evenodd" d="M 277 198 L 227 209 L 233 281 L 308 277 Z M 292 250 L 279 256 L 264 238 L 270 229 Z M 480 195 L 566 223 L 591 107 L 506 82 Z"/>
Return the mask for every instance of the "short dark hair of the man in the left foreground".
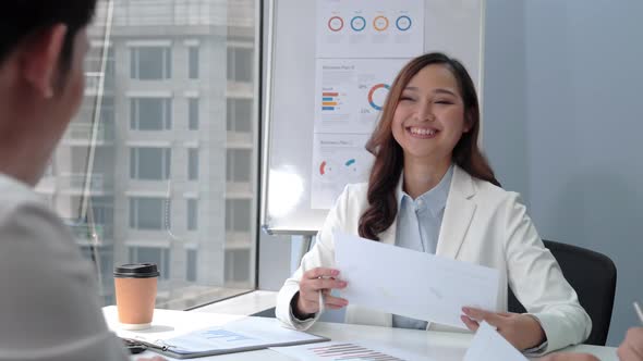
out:
<path id="1" fill-rule="evenodd" d="M 22 42 L 56 24 L 66 25 L 61 69 L 71 64 L 74 37 L 92 22 L 97 0 L 4 0 L 0 5 L 0 64 Z"/>

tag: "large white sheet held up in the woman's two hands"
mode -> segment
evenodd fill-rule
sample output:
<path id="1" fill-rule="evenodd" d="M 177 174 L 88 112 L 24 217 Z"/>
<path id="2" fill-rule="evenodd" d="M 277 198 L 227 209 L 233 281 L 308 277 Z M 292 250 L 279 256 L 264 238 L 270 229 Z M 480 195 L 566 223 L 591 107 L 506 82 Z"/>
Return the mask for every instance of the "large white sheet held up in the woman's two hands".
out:
<path id="1" fill-rule="evenodd" d="M 498 270 L 335 233 L 351 304 L 466 328 L 462 307 L 496 310 Z"/>

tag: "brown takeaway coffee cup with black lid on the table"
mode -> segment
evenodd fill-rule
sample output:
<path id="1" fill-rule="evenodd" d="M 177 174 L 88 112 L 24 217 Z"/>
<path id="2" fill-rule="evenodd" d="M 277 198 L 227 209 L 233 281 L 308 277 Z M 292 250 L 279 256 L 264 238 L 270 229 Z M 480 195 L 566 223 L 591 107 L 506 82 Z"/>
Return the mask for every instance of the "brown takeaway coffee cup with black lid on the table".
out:
<path id="1" fill-rule="evenodd" d="M 151 326 L 158 275 L 154 263 L 123 264 L 114 269 L 117 308 L 122 328 L 144 329 Z"/>

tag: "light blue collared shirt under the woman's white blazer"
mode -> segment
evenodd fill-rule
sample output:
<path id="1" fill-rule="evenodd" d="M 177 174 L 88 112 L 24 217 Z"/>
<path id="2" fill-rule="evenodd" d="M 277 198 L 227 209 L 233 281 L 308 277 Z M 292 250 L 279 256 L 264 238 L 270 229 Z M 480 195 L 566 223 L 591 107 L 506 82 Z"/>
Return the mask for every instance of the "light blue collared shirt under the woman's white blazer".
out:
<path id="1" fill-rule="evenodd" d="M 437 186 L 415 200 L 401 187 L 398 188 L 396 246 L 435 254 L 452 177 L 453 165 Z M 417 275 L 418 281 L 425 277 L 426 275 Z M 393 314 L 393 327 L 426 329 L 426 321 Z"/>

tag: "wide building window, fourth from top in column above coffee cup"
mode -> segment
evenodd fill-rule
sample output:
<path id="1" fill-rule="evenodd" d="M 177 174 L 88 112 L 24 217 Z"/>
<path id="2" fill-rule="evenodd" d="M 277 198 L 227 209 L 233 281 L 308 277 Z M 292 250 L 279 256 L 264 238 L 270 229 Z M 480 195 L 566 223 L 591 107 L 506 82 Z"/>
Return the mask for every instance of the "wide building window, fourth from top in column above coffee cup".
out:
<path id="1" fill-rule="evenodd" d="M 130 198 L 130 227 L 133 229 L 169 229 L 171 204 L 167 198 Z"/>

